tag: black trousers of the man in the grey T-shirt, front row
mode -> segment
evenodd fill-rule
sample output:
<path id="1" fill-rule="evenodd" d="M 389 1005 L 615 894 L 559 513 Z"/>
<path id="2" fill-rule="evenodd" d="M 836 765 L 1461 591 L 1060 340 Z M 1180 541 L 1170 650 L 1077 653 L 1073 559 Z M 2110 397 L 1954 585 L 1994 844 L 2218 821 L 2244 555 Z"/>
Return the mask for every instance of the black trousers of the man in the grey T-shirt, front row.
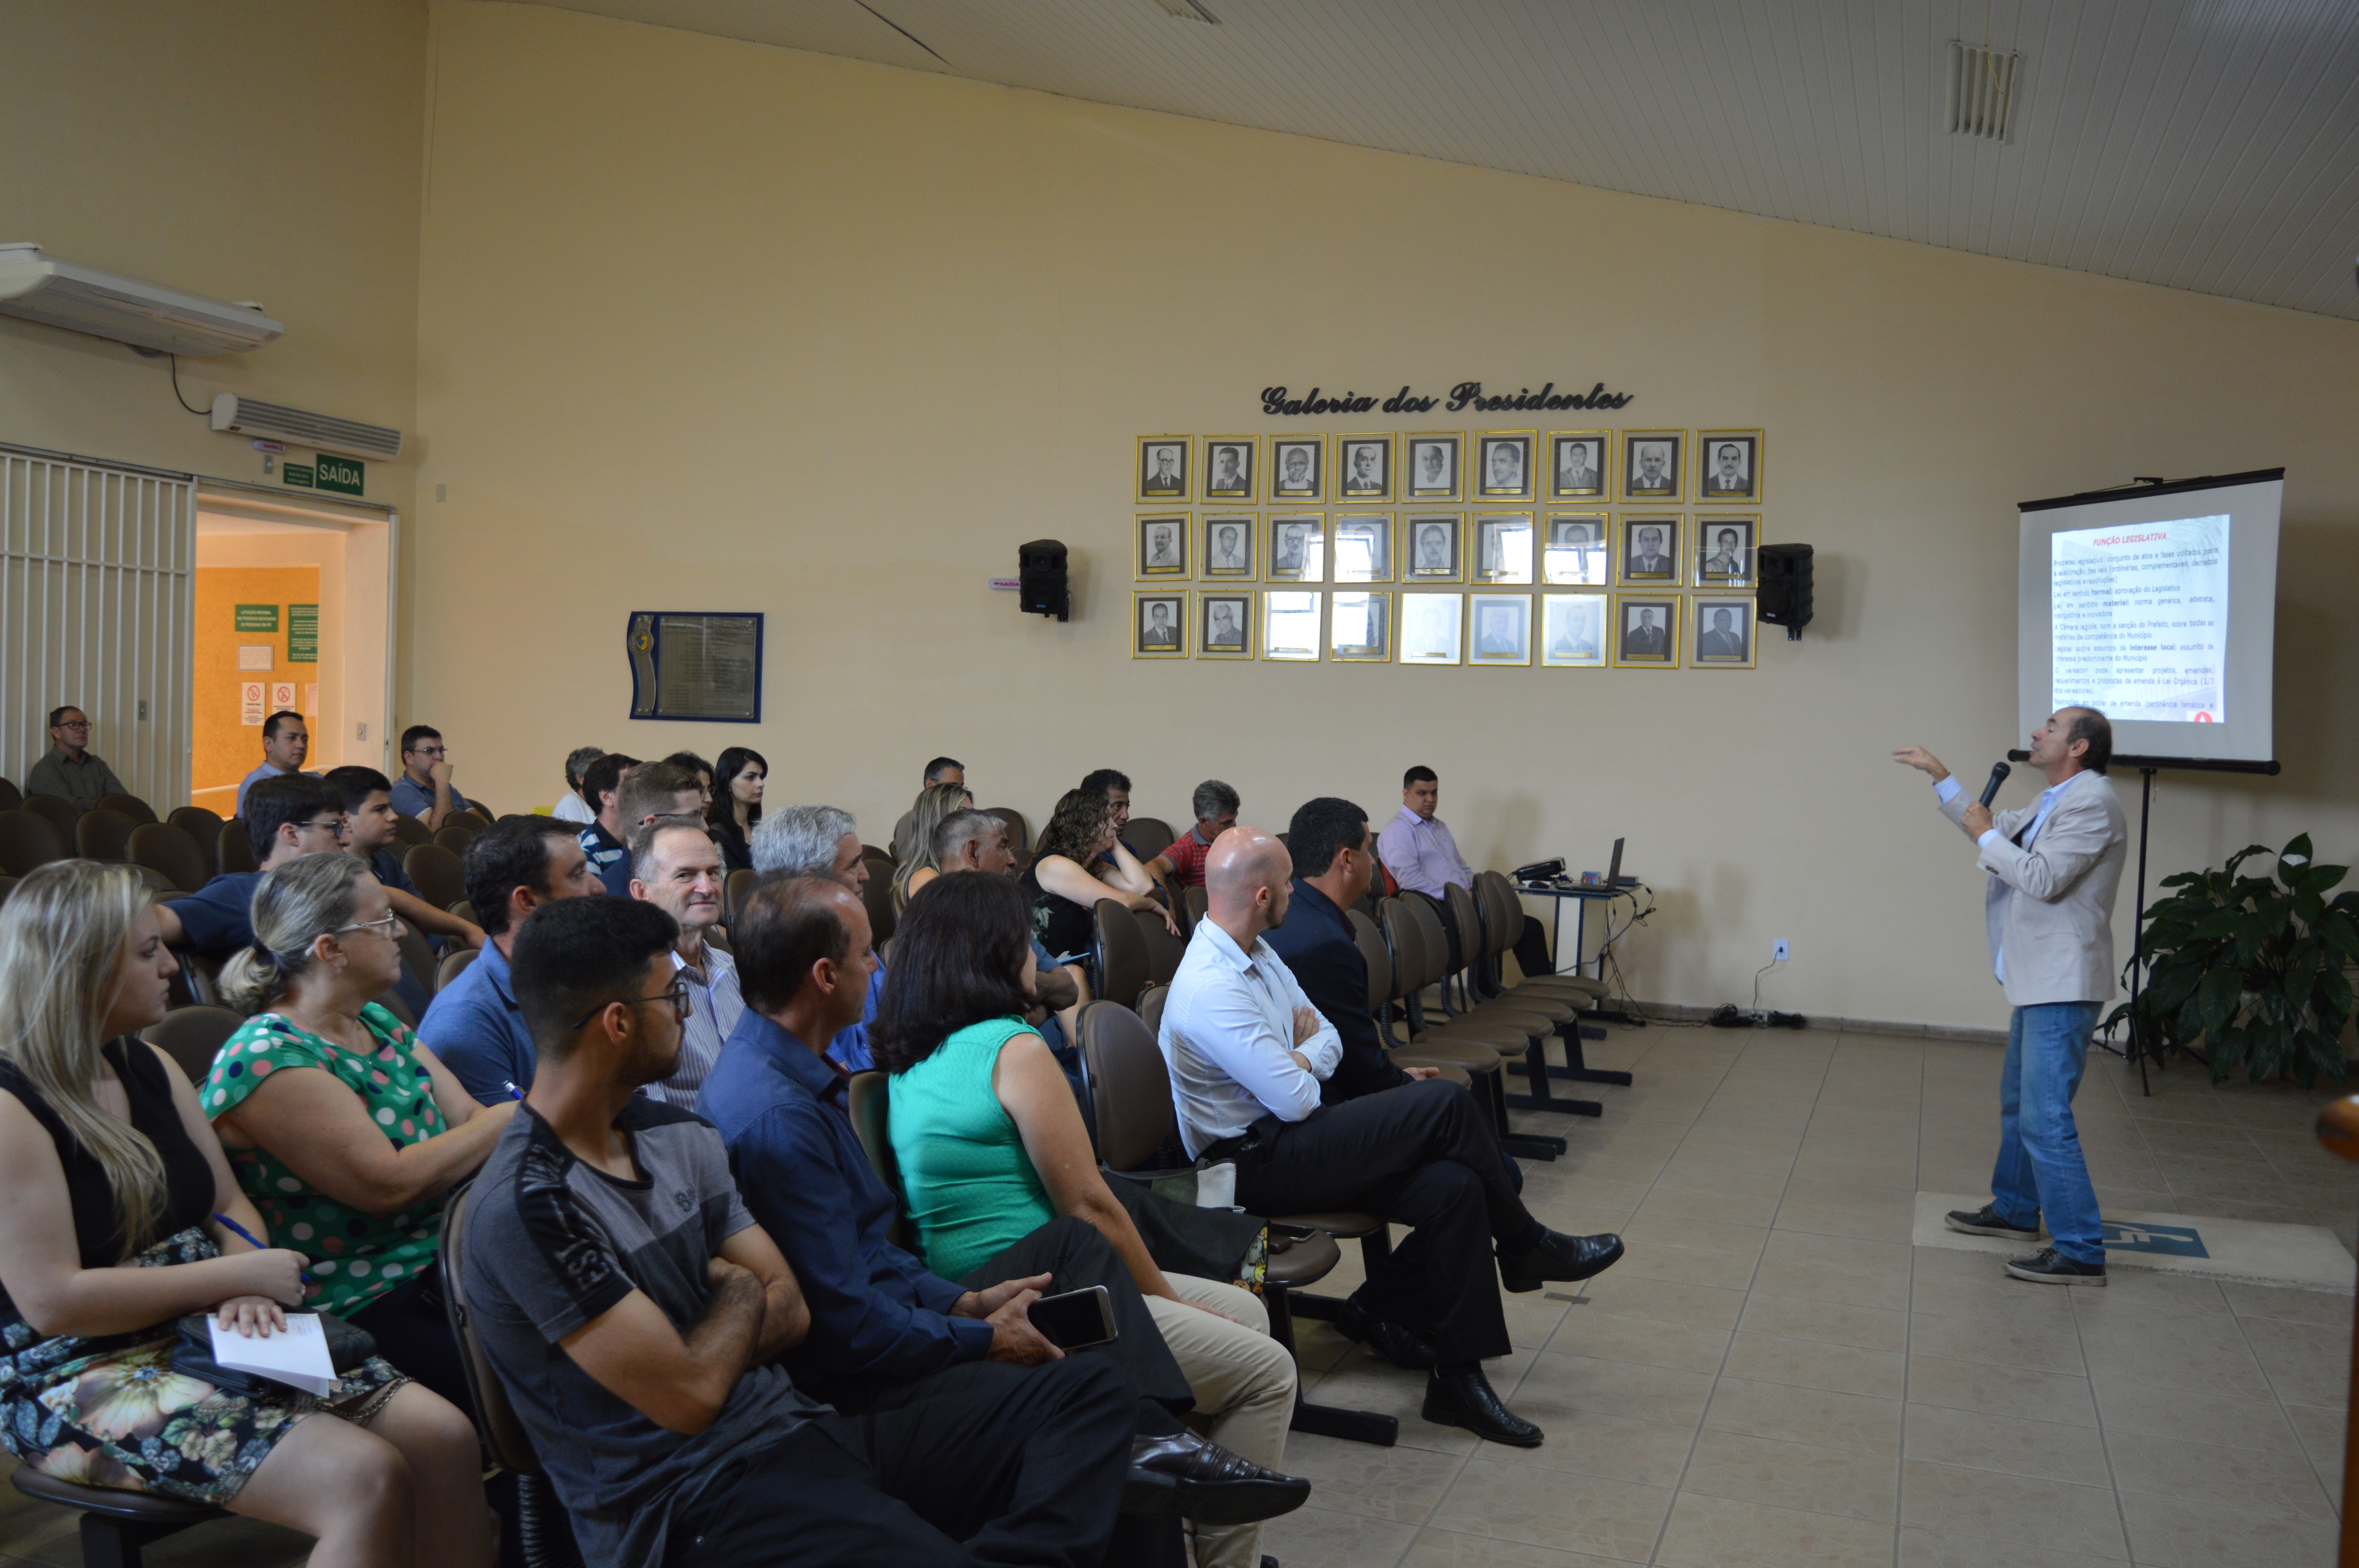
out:
<path id="1" fill-rule="evenodd" d="M 1095 1356 L 948 1368 L 722 1464 L 663 1561 L 1090 1568 L 1123 1504 L 1135 1408 Z"/>

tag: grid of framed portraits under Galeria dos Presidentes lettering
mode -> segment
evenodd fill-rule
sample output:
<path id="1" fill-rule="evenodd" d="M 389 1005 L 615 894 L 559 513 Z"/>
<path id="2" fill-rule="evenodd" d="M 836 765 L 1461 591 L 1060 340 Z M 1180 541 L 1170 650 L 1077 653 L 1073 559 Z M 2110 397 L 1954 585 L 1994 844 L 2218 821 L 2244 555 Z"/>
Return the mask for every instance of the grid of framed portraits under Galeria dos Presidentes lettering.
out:
<path id="1" fill-rule="evenodd" d="M 1753 670 L 1757 429 L 1139 436 L 1132 658 Z M 1538 589 L 1538 592 L 1533 592 Z"/>

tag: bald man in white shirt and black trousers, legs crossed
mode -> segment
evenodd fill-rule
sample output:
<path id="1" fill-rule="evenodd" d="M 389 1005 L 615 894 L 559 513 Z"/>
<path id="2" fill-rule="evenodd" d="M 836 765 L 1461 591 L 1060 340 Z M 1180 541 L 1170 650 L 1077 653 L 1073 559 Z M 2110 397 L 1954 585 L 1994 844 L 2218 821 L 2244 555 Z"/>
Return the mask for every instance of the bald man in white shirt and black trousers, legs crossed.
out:
<path id="1" fill-rule="evenodd" d="M 1427 1302 L 1418 1327 L 1437 1356 L 1425 1419 L 1538 1448 L 1540 1429 L 1481 1370 L 1510 1351 L 1500 1285 L 1585 1280 L 1621 1257 L 1621 1238 L 1559 1236 L 1533 1219 L 1491 1125 L 1448 1080 L 1321 1103 L 1342 1035 L 1262 938 L 1286 922 L 1290 877 L 1286 846 L 1257 828 L 1213 844 L 1210 905 L 1163 1007 L 1180 1139 L 1194 1160 L 1236 1162 L 1236 1203 L 1253 1214 L 1364 1210 L 1413 1228 Z"/>

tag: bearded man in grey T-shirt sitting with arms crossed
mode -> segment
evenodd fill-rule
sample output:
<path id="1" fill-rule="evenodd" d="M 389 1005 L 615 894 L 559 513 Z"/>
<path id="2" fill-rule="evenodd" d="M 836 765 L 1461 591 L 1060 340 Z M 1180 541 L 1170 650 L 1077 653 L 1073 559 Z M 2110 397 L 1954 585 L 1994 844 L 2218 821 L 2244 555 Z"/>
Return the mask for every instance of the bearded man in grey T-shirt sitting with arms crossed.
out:
<path id="1" fill-rule="evenodd" d="M 1135 1394 L 1111 1361 L 837 1415 L 809 1311 L 689 1111 L 672 920 L 578 898 L 517 938 L 540 1075 L 474 1184 L 462 1290 L 590 1568 L 1095 1563 Z M 965 1542 L 965 1544 L 960 1544 Z"/>

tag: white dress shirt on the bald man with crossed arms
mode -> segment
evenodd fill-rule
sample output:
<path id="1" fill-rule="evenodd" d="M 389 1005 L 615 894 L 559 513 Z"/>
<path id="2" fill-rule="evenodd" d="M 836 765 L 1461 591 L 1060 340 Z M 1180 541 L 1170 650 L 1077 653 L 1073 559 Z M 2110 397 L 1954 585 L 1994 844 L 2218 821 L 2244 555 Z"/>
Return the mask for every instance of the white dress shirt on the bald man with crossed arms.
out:
<path id="1" fill-rule="evenodd" d="M 1295 1009 L 1309 1004 L 1267 941 L 1255 936 L 1246 953 L 1210 920 L 1196 922 L 1158 1037 L 1189 1158 L 1241 1137 L 1262 1115 L 1300 1122 L 1319 1108 L 1319 1085 L 1342 1061 L 1342 1035 L 1319 1019 L 1319 1033 L 1297 1047 Z M 1309 1073 L 1293 1059 L 1297 1049 Z"/>

